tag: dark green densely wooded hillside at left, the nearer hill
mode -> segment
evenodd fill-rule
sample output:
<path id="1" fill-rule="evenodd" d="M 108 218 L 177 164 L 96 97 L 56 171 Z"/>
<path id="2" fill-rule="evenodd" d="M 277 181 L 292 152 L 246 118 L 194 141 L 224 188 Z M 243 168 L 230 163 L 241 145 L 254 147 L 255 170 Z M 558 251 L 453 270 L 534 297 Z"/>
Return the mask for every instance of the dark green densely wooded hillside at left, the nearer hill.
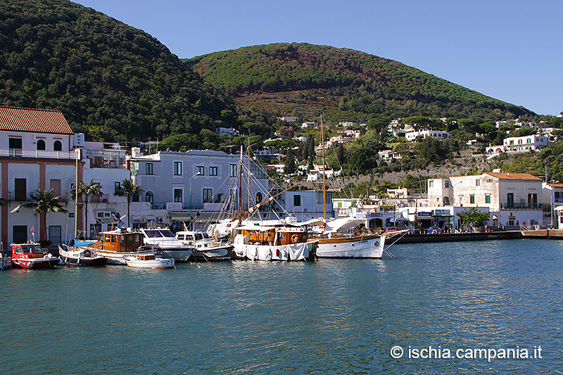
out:
<path id="1" fill-rule="evenodd" d="M 100 141 L 236 122 L 236 103 L 158 40 L 64 0 L 0 2 L 0 104 L 61 110 Z"/>

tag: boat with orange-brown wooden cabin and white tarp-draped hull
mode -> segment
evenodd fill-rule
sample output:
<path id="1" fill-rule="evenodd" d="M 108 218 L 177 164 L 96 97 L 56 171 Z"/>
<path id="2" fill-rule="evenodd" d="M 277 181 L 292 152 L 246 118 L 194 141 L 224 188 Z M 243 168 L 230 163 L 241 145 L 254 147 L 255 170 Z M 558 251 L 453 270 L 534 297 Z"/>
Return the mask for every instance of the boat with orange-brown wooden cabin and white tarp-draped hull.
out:
<path id="1" fill-rule="evenodd" d="M 236 258 L 248 260 L 312 260 L 318 241 L 308 241 L 299 227 L 237 227 L 233 241 Z"/>

